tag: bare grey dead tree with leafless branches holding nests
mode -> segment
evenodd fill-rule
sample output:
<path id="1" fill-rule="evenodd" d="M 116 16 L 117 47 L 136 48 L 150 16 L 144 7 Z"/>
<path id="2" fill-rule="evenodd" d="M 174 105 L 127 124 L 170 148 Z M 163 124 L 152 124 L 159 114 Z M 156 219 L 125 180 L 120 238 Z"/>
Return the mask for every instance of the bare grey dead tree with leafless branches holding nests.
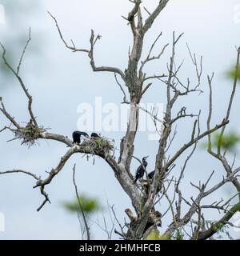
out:
<path id="1" fill-rule="evenodd" d="M 182 82 L 178 77 L 178 72 L 182 68 L 182 64 L 176 66 L 175 64 L 175 49 L 182 34 L 176 36 L 173 34 L 173 42 L 171 44 L 171 56 L 170 62 L 167 65 L 167 73 L 164 74 L 154 74 L 148 75 L 144 72 L 145 66 L 147 63 L 152 62 L 156 59 L 160 59 L 164 53 L 166 46 L 162 47 L 162 51 L 158 55 L 153 55 L 152 50 L 158 39 L 162 34 L 159 34 L 156 40 L 153 42 L 153 45 L 150 47 L 149 54 L 142 60 L 142 47 L 146 34 L 151 29 L 154 24 L 154 21 L 161 14 L 162 10 L 166 7 L 169 0 L 161 0 L 158 2 L 155 10 L 150 13 L 146 10 L 145 7 L 142 7 L 142 1 L 140 0 L 130 0 L 133 4 L 132 10 L 130 10 L 127 17 L 123 17 L 127 24 L 130 26 L 131 33 L 133 35 L 133 45 L 131 46 L 129 53 L 128 65 L 125 70 L 121 70 L 118 67 L 112 66 L 96 66 L 94 62 L 94 46 L 101 38 L 101 36 L 95 35 L 94 30 L 91 30 L 90 34 L 90 47 L 88 49 L 77 48 L 74 45 L 74 42 L 71 42 L 71 45 L 66 42 L 66 39 L 62 36 L 62 31 L 58 26 L 57 19 L 50 14 L 53 18 L 55 25 L 58 29 L 58 34 L 69 50 L 73 52 L 83 52 L 86 53 L 90 59 L 90 66 L 94 72 L 110 72 L 113 73 L 118 86 L 120 86 L 123 92 L 123 101 L 130 104 L 130 118 L 127 125 L 127 130 L 125 136 L 122 138 L 120 145 L 120 154 L 118 161 L 115 160 L 112 151 L 114 149 L 113 144 L 107 139 L 102 138 L 102 145 L 99 146 L 99 143 L 96 144 L 91 140 L 82 143 L 81 145 L 76 145 L 69 138 L 61 134 L 49 133 L 48 130 L 38 124 L 38 120 L 35 117 L 35 114 L 32 110 L 33 98 L 30 95 L 29 90 L 26 87 L 25 82 L 22 80 L 19 71 L 22 66 L 22 58 L 26 52 L 26 48 L 31 40 L 30 34 L 29 39 L 26 42 L 26 46 L 22 51 L 22 57 L 18 63 L 16 69 L 10 66 L 10 63 L 6 59 L 6 49 L 2 46 L 2 59 L 5 62 L 6 66 L 17 78 L 22 90 L 26 94 L 26 99 L 28 100 L 28 112 L 30 116 L 30 122 L 26 126 L 22 126 L 14 118 L 9 110 L 6 109 L 6 106 L 1 98 L 1 107 L 0 110 L 6 119 L 10 122 L 9 126 L 2 127 L 1 132 L 9 130 L 14 133 L 14 138 L 22 140 L 22 144 L 27 144 L 29 146 L 34 145 L 35 142 L 41 139 L 54 140 L 60 143 L 66 144 L 68 149 L 66 154 L 64 154 L 58 163 L 58 166 L 55 166 L 47 174 L 46 178 L 40 178 L 37 174 L 33 174 L 29 170 L 2 170 L 0 174 L 11 174 L 11 173 L 22 173 L 30 175 L 35 179 L 36 184 L 34 188 L 39 188 L 41 194 L 44 197 L 44 201 L 41 206 L 38 207 L 38 210 L 41 210 L 46 202 L 50 202 L 49 195 L 46 194 L 46 186 L 49 186 L 52 180 L 65 166 L 66 162 L 70 159 L 73 154 L 82 153 L 82 154 L 94 154 L 102 158 L 103 161 L 106 161 L 110 170 L 114 172 L 115 178 L 117 178 L 119 184 L 122 186 L 122 190 L 129 196 L 132 203 L 134 213 L 132 210 L 127 209 L 126 214 L 129 217 L 129 222 L 126 223 L 126 230 L 122 229 L 121 232 L 116 230 L 116 233 L 121 235 L 124 239 L 143 239 L 146 238 L 148 234 L 152 231 L 158 230 L 158 226 L 161 226 L 166 212 L 171 211 L 172 222 L 169 223 L 166 230 L 161 230 L 161 234 L 166 238 L 173 237 L 176 232 L 181 229 L 184 229 L 186 225 L 191 225 L 192 230 L 187 232 L 187 235 L 190 239 L 207 239 L 212 237 L 214 234 L 221 230 L 223 226 L 230 225 L 230 218 L 240 210 L 240 183 L 238 180 L 238 172 L 240 167 L 234 168 L 233 165 L 230 165 L 226 158 L 226 154 L 222 152 L 221 140 L 225 133 L 226 126 L 230 122 L 230 110 L 232 107 L 232 102 L 234 100 L 234 94 L 238 82 L 238 78 L 234 79 L 234 86 L 232 94 L 229 101 L 228 109 L 226 110 L 226 115 L 222 116 L 222 122 L 217 125 L 211 126 L 211 116 L 212 116 L 212 83 L 214 75 L 207 78 L 209 88 L 210 88 L 210 104 L 209 104 L 209 116 L 206 122 L 206 130 L 200 130 L 200 114 L 201 111 L 196 114 L 187 114 L 186 108 L 183 107 L 179 110 L 177 116 L 173 114 L 174 103 L 178 98 L 193 93 L 202 93 L 200 89 L 200 82 L 202 78 L 202 58 L 198 62 L 195 54 L 192 54 L 190 49 L 190 58 L 195 67 L 196 76 L 198 83 L 192 86 L 189 79 L 187 82 Z M 148 17 L 144 20 L 142 17 L 142 10 L 146 10 Z M 240 48 L 237 49 L 237 64 L 236 69 L 239 69 L 239 55 Z M 119 82 L 121 79 L 121 82 Z M 134 158 L 134 138 L 138 131 L 138 117 L 139 117 L 139 103 L 142 100 L 143 95 L 146 93 L 146 90 L 150 89 L 151 80 L 156 80 L 165 87 L 166 90 L 166 112 L 162 125 L 162 130 L 160 132 L 161 137 L 158 142 L 158 152 L 156 153 L 155 160 L 155 169 L 154 177 L 152 179 L 142 180 L 141 186 L 136 186 L 134 184 L 134 177 L 131 174 L 130 166 L 132 159 Z M 121 86 L 121 84 L 124 86 Z M 126 94 L 125 89 L 128 91 Z M 129 98 L 129 100 L 128 100 Z M 150 113 L 148 113 L 150 114 Z M 167 156 L 167 151 L 171 146 L 173 141 L 173 125 L 182 118 L 194 118 L 192 134 L 190 134 L 190 139 L 183 146 L 179 147 L 179 150 L 175 152 L 174 155 Z M 153 121 L 158 122 L 158 119 L 153 115 Z M 221 136 L 218 142 L 218 150 L 215 152 L 211 146 L 211 134 L 215 131 L 220 130 Z M 209 187 L 210 179 L 213 178 L 214 172 L 210 174 L 210 177 L 206 182 L 199 183 L 198 185 L 192 184 L 194 189 L 198 190 L 198 196 L 196 198 L 191 198 L 191 201 L 186 200 L 182 194 L 181 185 L 184 171 L 186 170 L 187 163 L 189 162 L 191 156 L 194 154 L 196 146 L 202 138 L 208 138 L 208 153 L 211 154 L 214 158 L 217 158 L 222 162 L 224 170 L 226 170 L 225 177 L 221 181 L 217 182 L 215 186 Z M 100 143 L 101 144 L 101 143 Z M 178 159 L 182 159 L 182 154 L 190 150 L 188 157 L 182 161 L 182 171 L 179 177 L 174 177 L 174 165 Z M 173 174 L 173 178 L 170 178 L 170 174 Z M 236 194 L 226 202 L 213 202 L 210 205 L 203 205 L 202 199 L 206 198 L 210 194 L 214 193 L 216 190 L 219 190 L 227 182 L 230 182 L 236 189 Z M 169 191 L 174 191 L 174 198 L 170 198 Z M 169 206 L 166 206 L 166 209 L 156 210 L 157 203 L 161 202 L 162 198 L 166 198 L 169 202 Z M 237 203 L 232 204 L 233 198 L 238 198 Z M 186 214 L 182 214 L 182 204 L 188 206 L 188 211 Z M 217 222 L 211 222 L 210 225 L 207 224 L 204 217 L 204 209 L 216 209 L 221 212 L 221 217 Z M 165 211 L 166 210 L 166 211 Z M 165 211 L 165 212 L 164 212 Z M 160 213 L 161 212 L 161 213 Z M 195 219 L 197 218 L 197 219 Z"/>

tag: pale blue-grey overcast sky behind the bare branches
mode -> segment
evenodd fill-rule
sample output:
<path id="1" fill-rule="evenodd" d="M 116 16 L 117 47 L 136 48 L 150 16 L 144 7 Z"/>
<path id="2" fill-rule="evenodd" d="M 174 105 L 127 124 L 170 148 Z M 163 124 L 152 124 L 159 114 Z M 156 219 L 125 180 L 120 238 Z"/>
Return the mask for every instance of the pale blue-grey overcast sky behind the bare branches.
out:
<path id="1" fill-rule="evenodd" d="M 157 0 L 145 0 L 148 10 L 154 10 Z M 22 78 L 34 97 L 34 113 L 38 123 L 50 127 L 58 134 L 71 136 L 77 129 L 81 103 L 94 106 L 95 97 L 102 97 L 102 104 L 115 102 L 120 107 L 122 94 L 114 82 L 113 74 L 96 74 L 90 69 L 89 59 L 84 53 L 72 53 L 60 41 L 53 20 L 47 14 L 49 10 L 58 18 L 59 26 L 68 42 L 70 39 L 78 47 L 89 46 L 90 29 L 101 34 L 102 39 L 95 48 L 95 62 L 98 66 L 118 66 L 125 69 L 128 49 L 131 44 L 130 27 L 121 17 L 127 15 L 131 3 L 127 0 L 56 0 L 36 1 L 2 1 L 5 7 L 6 23 L 0 24 L 0 40 L 10 49 L 11 61 L 16 64 L 24 46 L 28 29 L 31 26 L 32 42 L 22 65 Z M 153 29 L 146 36 L 143 58 L 157 34 L 162 31 L 162 38 L 155 48 L 158 53 L 167 42 L 171 42 L 172 33 L 184 32 L 177 47 L 177 62 L 185 60 L 181 78 L 190 77 L 194 80 L 194 66 L 191 65 L 186 42 L 198 57 L 203 56 L 202 90 L 205 94 L 183 98 L 176 104 L 175 113 L 182 106 L 187 106 L 194 114 L 202 109 L 202 130 L 206 129 L 206 113 L 208 86 L 206 75 L 214 72 L 214 116 L 212 125 L 221 122 L 226 113 L 226 104 L 230 95 L 231 83 L 226 79 L 226 70 L 235 62 L 235 46 L 239 45 L 240 2 L 234 0 L 170 0 L 166 9 L 154 22 Z M 166 72 L 166 62 L 170 58 L 170 49 L 161 61 L 148 66 L 148 74 Z M 1 71 L 2 72 L 2 71 Z M 21 122 L 28 122 L 27 102 L 20 86 L 6 74 L 1 75 L 0 96 L 10 113 Z M 239 92 L 236 94 L 234 109 L 231 114 L 229 130 L 239 132 Z M 162 86 L 154 82 L 152 89 L 142 99 L 145 103 L 164 103 L 165 94 Z M 180 122 L 178 134 L 173 143 L 177 150 L 181 143 L 187 142 L 193 120 Z M 0 116 L 0 128 L 6 124 L 6 119 Z M 102 134 L 114 138 L 118 145 L 122 132 L 106 132 Z M 148 132 L 140 132 L 136 138 L 134 154 L 138 158 L 149 154 L 148 170 L 153 170 L 158 143 L 148 140 Z M 46 170 L 51 170 L 58 164 L 59 158 L 66 151 L 66 146 L 58 142 L 41 141 L 39 146 L 28 149 L 20 146 L 18 141 L 6 142 L 12 134 L 0 134 L 0 170 L 14 168 L 31 170 L 45 177 Z M 184 161 L 184 158 L 182 158 Z M 64 169 L 54 181 L 46 187 L 51 204 L 47 204 L 40 212 L 36 209 L 42 202 L 38 190 L 33 190 L 34 180 L 21 174 L 0 177 L 0 212 L 5 214 L 6 231 L 0 232 L 0 239 L 78 239 L 80 238 L 78 218 L 69 214 L 62 207 L 62 202 L 74 198 L 72 184 L 72 166 L 77 164 L 78 187 L 82 193 L 98 198 L 107 215 L 107 203 L 115 205 L 120 221 L 125 218 L 124 210 L 130 207 L 130 200 L 114 178 L 109 166 L 101 159 L 87 162 L 80 154 L 67 162 Z M 182 162 L 178 162 L 176 170 L 180 170 Z M 236 165 L 239 164 L 237 159 Z M 132 172 L 138 166 L 133 162 Z M 190 180 L 198 182 L 206 178 L 212 170 L 218 170 L 214 181 L 221 179 L 222 166 L 210 158 L 204 150 L 198 149 L 186 171 L 184 185 L 186 197 L 195 194 L 190 186 Z M 222 193 L 214 194 L 214 199 L 229 197 L 234 193 L 226 186 Z M 101 213 L 99 218 L 101 218 Z M 219 218 L 218 212 L 210 214 Z M 96 226 L 92 227 L 94 238 L 106 238 L 106 234 Z M 163 229 L 164 230 L 164 229 Z M 234 237 L 237 232 L 231 230 Z M 117 238 L 117 237 L 116 237 Z"/>

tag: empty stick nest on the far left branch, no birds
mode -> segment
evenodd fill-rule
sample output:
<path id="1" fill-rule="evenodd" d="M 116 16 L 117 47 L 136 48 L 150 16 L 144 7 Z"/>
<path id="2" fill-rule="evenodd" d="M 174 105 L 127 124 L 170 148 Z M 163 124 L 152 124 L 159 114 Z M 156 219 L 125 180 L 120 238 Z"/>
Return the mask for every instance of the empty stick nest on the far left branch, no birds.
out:
<path id="1" fill-rule="evenodd" d="M 45 128 L 34 126 L 34 123 L 30 120 L 25 128 L 14 130 L 14 139 L 20 139 L 22 140 L 21 145 L 25 144 L 30 147 L 37 144 L 40 134 L 44 132 L 46 132 Z"/>

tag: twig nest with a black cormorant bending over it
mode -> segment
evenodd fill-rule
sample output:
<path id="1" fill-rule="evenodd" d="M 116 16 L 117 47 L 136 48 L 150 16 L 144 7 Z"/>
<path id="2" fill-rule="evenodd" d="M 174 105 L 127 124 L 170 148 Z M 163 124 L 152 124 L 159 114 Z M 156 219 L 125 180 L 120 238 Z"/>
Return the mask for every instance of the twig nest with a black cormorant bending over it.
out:
<path id="1" fill-rule="evenodd" d="M 114 151 L 114 140 L 106 137 L 90 138 L 82 142 L 81 146 L 88 154 L 106 155 Z"/>

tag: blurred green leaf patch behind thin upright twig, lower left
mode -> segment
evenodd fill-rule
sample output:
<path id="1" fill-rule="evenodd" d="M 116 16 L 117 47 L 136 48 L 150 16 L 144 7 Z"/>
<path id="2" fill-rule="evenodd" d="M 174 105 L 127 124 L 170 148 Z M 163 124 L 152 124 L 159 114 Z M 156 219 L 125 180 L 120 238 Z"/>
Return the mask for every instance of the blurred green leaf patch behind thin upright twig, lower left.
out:
<path id="1" fill-rule="evenodd" d="M 97 199 L 88 198 L 86 195 L 79 195 L 79 198 L 82 204 L 82 210 L 85 214 L 93 214 L 94 212 L 100 210 L 101 206 L 99 205 Z M 64 202 L 63 206 L 70 212 L 79 212 L 81 214 L 77 198 L 73 202 Z"/>

